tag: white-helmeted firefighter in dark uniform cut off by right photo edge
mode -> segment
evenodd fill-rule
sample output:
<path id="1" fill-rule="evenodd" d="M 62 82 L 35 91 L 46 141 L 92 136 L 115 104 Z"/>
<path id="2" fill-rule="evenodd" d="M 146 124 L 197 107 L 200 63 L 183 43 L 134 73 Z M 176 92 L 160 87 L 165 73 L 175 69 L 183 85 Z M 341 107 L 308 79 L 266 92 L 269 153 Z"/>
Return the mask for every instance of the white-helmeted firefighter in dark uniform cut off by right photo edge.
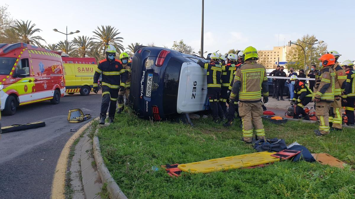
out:
<path id="1" fill-rule="evenodd" d="M 348 125 L 354 126 L 354 104 L 355 104 L 355 70 L 353 69 L 354 63 L 351 60 L 345 60 L 342 63 L 346 78 L 346 87 L 343 97 L 343 106 L 345 107 L 345 114 L 348 117 Z"/>

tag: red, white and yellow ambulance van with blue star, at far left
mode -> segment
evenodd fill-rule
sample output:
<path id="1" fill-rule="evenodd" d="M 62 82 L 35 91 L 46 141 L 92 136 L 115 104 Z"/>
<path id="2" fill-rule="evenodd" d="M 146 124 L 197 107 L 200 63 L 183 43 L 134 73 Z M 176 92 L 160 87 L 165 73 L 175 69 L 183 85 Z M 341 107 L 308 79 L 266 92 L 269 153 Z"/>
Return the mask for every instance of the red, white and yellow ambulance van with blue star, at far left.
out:
<path id="1" fill-rule="evenodd" d="M 18 106 L 50 100 L 65 93 L 62 58 L 57 51 L 25 43 L 0 44 L 0 99 L 5 115 Z"/>

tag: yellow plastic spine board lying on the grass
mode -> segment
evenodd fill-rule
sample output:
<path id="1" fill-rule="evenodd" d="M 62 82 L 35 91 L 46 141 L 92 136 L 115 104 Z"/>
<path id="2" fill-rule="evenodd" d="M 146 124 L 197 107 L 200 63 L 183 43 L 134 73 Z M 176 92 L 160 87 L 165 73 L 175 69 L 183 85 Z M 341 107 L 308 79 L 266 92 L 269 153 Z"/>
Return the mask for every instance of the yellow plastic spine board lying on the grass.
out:
<path id="1" fill-rule="evenodd" d="M 272 157 L 272 154 L 275 154 L 275 152 L 270 153 L 264 151 L 244 155 L 235 155 L 194 163 L 180 164 L 178 168 L 181 171 L 191 173 L 210 173 L 214 171 L 225 171 L 229 169 L 239 169 L 242 167 L 273 163 L 280 160 L 279 158 Z"/>

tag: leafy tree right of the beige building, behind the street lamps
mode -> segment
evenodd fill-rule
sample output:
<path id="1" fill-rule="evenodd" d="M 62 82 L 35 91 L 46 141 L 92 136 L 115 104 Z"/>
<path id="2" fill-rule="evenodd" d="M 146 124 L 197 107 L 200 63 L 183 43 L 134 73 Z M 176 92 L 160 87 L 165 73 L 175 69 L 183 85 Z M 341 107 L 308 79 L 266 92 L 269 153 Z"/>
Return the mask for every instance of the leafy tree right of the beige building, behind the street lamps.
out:
<path id="1" fill-rule="evenodd" d="M 309 63 L 310 63 L 310 58 L 311 58 L 311 44 L 312 41 L 316 40 L 315 35 L 304 35 L 302 38 L 297 39 L 296 44 L 301 45 L 306 52 L 306 65 L 310 68 Z M 306 44 L 306 43 L 308 44 Z M 286 67 L 290 68 L 293 67 L 295 70 L 300 70 L 304 69 L 304 61 L 305 61 L 305 55 L 300 46 L 297 45 L 291 45 L 292 48 L 286 53 L 286 60 L 288 63 L 286 63 Z M 328 45 L 326 43 L 322 44 L 315 44 L 312 46 L 312 63 L 317 63 L 318 58 L 321 57 L 324 53 L 327 52 L 327 47 Z"/>

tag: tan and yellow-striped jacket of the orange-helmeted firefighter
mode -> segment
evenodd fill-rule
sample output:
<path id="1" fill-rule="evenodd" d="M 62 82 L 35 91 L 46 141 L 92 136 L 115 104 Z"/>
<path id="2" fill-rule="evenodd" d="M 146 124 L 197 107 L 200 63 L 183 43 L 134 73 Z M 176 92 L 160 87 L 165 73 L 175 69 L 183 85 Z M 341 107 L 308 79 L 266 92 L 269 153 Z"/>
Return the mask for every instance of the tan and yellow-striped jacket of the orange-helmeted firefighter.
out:
<path id="1" fill-rule="evenodd" d="M 314 85 L 313 99 L 317 98 L 326 102 L 334 101 L 334 76 L 335 74 L 331 66 L 323 67 L 318 72 L 316 84 Z"/>

